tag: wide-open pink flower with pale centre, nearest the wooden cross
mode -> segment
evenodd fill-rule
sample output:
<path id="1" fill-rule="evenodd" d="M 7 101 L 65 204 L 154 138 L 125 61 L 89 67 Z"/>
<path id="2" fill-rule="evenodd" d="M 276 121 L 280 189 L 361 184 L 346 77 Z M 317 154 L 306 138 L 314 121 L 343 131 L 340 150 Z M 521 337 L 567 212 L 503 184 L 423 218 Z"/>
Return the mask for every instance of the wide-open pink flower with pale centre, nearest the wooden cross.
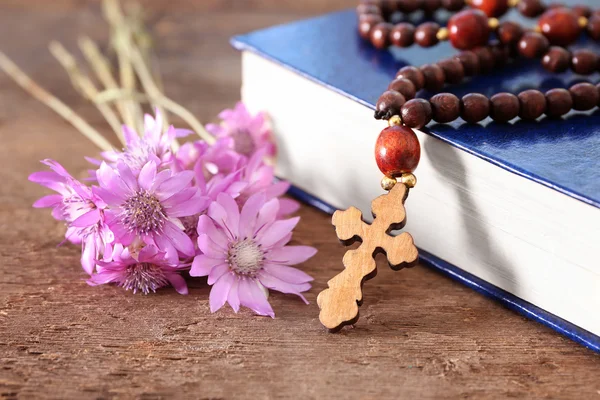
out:
<path id="1" fill-rule="evenodd" d="M 311 276 L 290 267 L 316 253 L 309 246 L 286 246 L 299 218 L 277 220 L 279 201 L 256 194 L 241 213 L 235 200 L 221 193 L 198 220 L 198 247 L 191 276 L 208 276 L 211 312 L 225 302 L 237 312 L 240 305 L 275 317 L 268 289 L 299 296 L 310 289 Z"/>

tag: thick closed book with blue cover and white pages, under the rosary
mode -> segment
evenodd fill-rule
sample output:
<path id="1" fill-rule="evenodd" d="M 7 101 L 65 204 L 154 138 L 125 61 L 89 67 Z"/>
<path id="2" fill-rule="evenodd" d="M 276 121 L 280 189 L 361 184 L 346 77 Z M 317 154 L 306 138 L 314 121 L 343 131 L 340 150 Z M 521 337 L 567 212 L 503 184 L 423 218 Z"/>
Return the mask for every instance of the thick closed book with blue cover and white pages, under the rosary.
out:
<path id="1" fill-rule="evenodd" d="M 243 52 L 242 98 L 270 114 L 278 174 L 294 183 L 292 194 L 329 213 L 355 205 L 367 217 L 382 194 L 374 143 L 386 124 L 373 119 L 377 98 L 402 66 L 456 51 L 448 43 L 376 50 L 356 31 L 348 10 L 232 43 Z M 584 38 L 577 47 L 600 52 Z M 518 60 L 443 91 L 492 96 L 598 78 L 550 74 L 539 60 Z M 422 157 L 404 230 L 421 260 L 600 352 L 600 112 L 432 122 L 417 136 Z"/>

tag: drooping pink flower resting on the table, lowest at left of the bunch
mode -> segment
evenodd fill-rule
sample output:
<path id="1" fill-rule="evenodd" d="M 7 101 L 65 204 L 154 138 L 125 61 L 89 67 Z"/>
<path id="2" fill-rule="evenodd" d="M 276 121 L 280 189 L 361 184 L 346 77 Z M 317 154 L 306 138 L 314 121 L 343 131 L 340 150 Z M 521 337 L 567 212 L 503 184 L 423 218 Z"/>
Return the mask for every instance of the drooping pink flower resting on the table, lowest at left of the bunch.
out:
<path id="1" fill-rule="evenodd" d="M 178 293 L 187 294 L 187 284 L 179 274 L 181 266 L 171 264 L 165 256 L 164 252 L 149 245 L 134 257 L 128 248 L 119 244 L 115 246 L 113 261 L 99 261 L 98 272 L 87 282 L 91 286 L 116 283 L 133 293 L 144 294 L 170 284 Z"/>

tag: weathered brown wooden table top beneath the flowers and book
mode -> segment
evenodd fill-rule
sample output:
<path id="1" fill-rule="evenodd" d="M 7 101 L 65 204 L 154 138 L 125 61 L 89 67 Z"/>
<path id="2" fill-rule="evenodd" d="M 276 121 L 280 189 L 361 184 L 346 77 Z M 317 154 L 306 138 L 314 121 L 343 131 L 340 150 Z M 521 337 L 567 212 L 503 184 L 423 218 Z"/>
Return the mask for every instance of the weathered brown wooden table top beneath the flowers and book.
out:
<path id="1" fill-rule="evenodd" d="M 52 3 L 52 4 L 51 4 Z M 239 96 L 234 33 L 354 0 L 147 1 L 166 91 L 205 120 Z M 235 6 L 235 7 L 233 7 Z M 0 48 L 106 131 L 46 51 L 106 40 L 96 2 L 2 1 Z M 292 44 L 293 45 L 293 44 Z M 380 266 L 362 318 L 337 335 L 316 295 L 341 268 L 329 216 L 302 208 L 295 240 L 319 249 L 311 304 L 274 294 L 277 318 L 211 314 L 205 282 L 132 295 L 86 285 L 63 226 L 27 181 L 53 158 L 83 174 L 92 144 L 0 74 L 0 396 L 3 398 L 600 398 L 600 357 L 426 267 Z M 184 394 L 186 396 L 184 396 Z"/>

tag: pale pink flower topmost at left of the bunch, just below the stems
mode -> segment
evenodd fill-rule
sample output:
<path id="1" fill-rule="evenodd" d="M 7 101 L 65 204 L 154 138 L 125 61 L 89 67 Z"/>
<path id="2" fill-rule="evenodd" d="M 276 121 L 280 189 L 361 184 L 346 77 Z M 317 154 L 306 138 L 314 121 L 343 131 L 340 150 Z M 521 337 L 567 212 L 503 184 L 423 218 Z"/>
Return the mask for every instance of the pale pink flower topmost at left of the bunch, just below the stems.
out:
<path id="1" fill-rule="evenodd" d="M 172 161 L 172 146 L 176 138 L 188 136 L 192 131 L 175 129 L 170 126 L 163 134 L 163 118 L 158 110 L 155 111 L 156 119 L 151 115 L 144 115 L 144 135 L 140 135 L 132 128 L 123 125 L 123 136 L 126 147 L 120 151 L 107 151 L 102 156 L 113 166 L 122 161 L 134 173 L 139 173 L 142 167 L 151 159 L 158 166 L 164 166 Z"/>

